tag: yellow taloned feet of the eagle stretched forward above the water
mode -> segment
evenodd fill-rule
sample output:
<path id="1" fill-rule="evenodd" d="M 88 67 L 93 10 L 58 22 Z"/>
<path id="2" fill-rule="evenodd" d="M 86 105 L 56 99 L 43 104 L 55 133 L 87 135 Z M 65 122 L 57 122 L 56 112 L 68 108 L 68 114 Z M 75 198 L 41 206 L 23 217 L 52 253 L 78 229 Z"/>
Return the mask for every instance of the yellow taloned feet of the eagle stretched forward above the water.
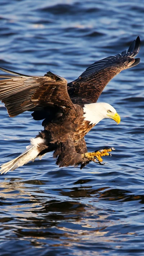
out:
<path id="1" fill-rule="evenodd" d="M 105 148 L 105 149 L 100 149 L 99 151 L 95 151 L 95 152 L 87 152 L 84 154 L 84 157 L 87 158 L 87 160 L 89 161 L 93 161 L 95 163 L 100 163 L 103 162 L 102 157 L 103 156 L 111 156 L 111 152 L 112 150 L 115 150 L 115 148 Z M 96 162 L 96 160 L 98 162 Z"/>

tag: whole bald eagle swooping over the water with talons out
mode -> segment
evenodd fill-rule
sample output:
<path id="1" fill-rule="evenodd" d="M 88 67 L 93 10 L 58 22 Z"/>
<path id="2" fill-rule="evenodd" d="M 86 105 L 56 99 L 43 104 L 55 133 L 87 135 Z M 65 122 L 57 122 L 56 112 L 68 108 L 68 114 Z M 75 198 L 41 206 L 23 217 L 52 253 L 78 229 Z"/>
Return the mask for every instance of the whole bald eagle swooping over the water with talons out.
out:
<path id="1" fill-rule="evenodd" d="M 54 151 L 59 167 L 81 168 L 90 161 L 102 163 L 102 157 L 114 148 L 87 152 L 84 136 L 103 118 L 117 123 L 120 116 L 108 103 L 96 103 L 104 87 L 123 69 L 139 64 L 140 39 L 121 54 L 99 60 L 80 77 L 67 84 L 63 77 L 50 71 L 44 76 L 28 76 L 0 68 L 10 75 L 0 75 L 0 100 L 10 117 L 32 111 L 34 120 L 43 120 L 44 130 L 30 140 L 20 156 L 1 165 L 1 174 L 15 170 L 45 153 Z"/>

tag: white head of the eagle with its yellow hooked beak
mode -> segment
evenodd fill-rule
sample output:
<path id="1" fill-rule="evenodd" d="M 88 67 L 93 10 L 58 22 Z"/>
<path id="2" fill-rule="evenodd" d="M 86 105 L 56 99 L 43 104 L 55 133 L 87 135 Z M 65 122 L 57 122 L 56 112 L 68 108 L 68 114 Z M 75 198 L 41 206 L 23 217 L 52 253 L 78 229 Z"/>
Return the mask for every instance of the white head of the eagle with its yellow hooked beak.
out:
<path id="1" fill-rule="evenodd" d="M 110 104 L 99 102 L 99 103 L 90 103 L 84 105 L 84 120 L 90 121 L 89 124 L 97 124 L 104 118 L 111 118 L 114 121 L 120 123 L 121 118 L 116 112 L 116 109 L 113 108 Z"/>

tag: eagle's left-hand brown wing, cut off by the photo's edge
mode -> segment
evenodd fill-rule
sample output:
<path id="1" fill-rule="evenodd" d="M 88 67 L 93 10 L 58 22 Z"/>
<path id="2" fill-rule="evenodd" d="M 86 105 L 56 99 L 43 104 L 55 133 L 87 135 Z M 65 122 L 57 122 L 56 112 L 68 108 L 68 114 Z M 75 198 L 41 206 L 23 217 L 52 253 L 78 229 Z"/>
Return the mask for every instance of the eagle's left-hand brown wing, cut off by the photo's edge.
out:
<path id="1" fill-rule="evenodd" d="M 2 71 L 12 75 L 0 75 L 0 100 L 4 102 L 10 117 L 36 106 L 48 107 L 57 105 L 62 108 L 73 108 L 68 95 L 67 80 L 51 72 L 44 76 L 27 76 L 4 68 Z M 13 76 L 15 75 L 15 76 Z M 32 111 L 33 111 L 32 110 Z"/>

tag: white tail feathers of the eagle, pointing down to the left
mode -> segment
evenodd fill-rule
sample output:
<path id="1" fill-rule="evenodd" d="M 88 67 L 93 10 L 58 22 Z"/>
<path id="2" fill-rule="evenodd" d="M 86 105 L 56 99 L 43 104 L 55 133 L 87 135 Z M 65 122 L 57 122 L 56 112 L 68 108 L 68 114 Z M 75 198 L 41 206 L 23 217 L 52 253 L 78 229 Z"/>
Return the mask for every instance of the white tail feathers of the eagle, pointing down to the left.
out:
<path id="1" fill-rule="evenodd" d="M 44 143 L 44 139 L 38 137 L 35 139 L 31 139 L 31 144 L 27 146 L 26 151 L 24 151 L 21 155 L 14 158 L 13 160 L 4 163 L 1 165 L 0 172 L 1 174 L 8 172 L 9 170 L 13 171 L 19 166 L 23 166 L 30 161 L 34 161 L 37 155 L 40 153 L 39 144 Z"/>

